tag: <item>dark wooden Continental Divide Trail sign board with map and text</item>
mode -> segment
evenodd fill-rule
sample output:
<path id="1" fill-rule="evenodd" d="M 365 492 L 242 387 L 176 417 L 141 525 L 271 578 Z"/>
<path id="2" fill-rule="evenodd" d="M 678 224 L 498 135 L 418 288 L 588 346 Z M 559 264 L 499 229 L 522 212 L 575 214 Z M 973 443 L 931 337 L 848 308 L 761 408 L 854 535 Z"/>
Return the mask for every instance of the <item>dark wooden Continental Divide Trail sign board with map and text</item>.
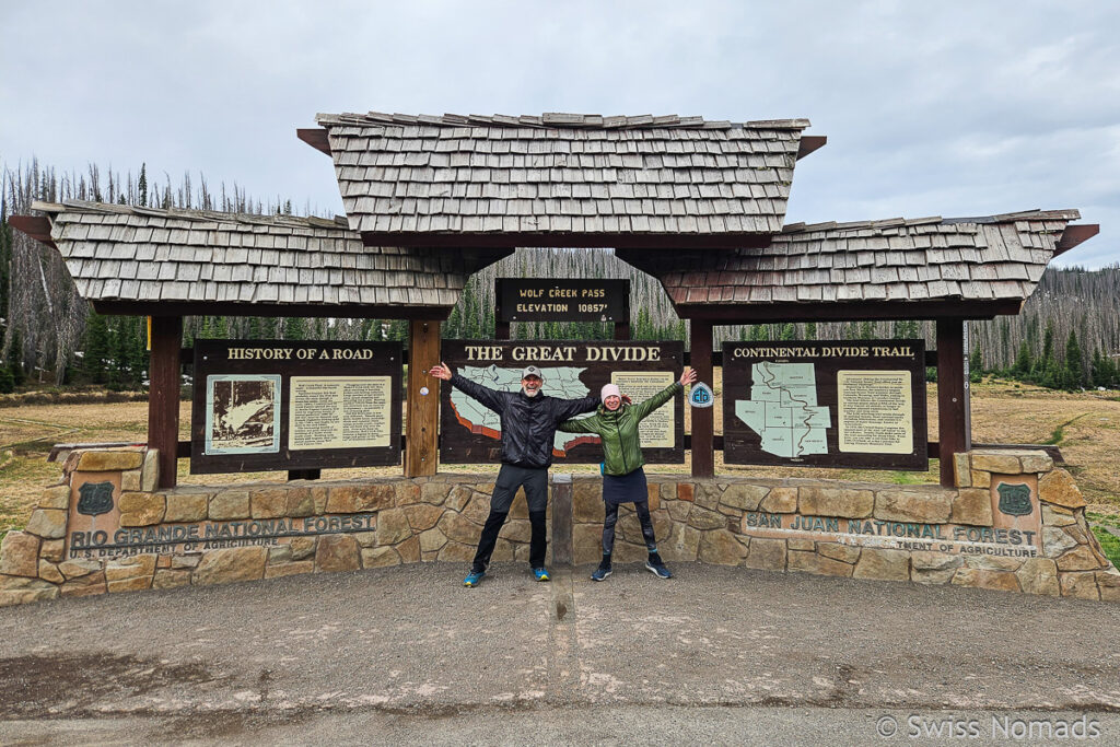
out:
<path id="1" fill-rule="evenodd" d="M 925 344 L 724 344 L 724 461 L 928 469 Z"/>

